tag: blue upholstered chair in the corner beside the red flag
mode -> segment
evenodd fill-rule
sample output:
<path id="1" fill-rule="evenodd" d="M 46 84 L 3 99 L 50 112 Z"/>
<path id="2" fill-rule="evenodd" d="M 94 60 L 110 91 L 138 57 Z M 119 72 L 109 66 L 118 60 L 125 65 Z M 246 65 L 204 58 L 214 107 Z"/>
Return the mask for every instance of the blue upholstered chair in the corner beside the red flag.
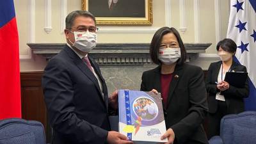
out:
<path id="1" fill-rule="evenodd" d="M 44 126 L 34 120 L 0 120 L 1 144 L 45 144 Z"/>

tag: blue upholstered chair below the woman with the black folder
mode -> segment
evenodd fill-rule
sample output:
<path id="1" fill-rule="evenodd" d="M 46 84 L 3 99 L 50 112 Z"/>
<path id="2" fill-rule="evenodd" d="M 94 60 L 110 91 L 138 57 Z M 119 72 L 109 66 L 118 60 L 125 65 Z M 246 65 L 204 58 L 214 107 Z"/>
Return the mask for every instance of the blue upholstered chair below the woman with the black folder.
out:
<path id="1" fill-rule="evenodd" d="M 256 144 L 256 111 L 244 111 L 221 118 L 220 136 L 213 136 L 210 144 Z"/>

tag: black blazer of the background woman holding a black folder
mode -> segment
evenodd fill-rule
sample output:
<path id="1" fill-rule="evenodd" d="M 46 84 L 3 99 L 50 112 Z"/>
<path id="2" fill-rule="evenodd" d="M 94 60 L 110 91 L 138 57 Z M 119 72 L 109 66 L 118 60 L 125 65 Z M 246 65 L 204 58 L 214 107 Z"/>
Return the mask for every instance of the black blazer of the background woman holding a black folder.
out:
<path id="1" fill-rule="evenodd" d="M 220 92 L 216 86 L 216 81 L 218 81 L 218 74 L 220 72 L 221 61 L 211 63 L 207 77 L 205 81 L 205 87 L 209 93 L 209 113 L 216 113 L 218 109 L 218 100 L 216 100 L 216 93 Z M 230 71 L 234 72 L 247 72 L 246 67 L 240 65 L 233 61 Z M 230 113 L 241 113 L 244 111 L 244 100 L 243 98 L 248 97 L 249 87 L 248 80 L 244 84 L 244 88 L 236 88 L 230 85 L 228 90 L 221 92 L 225 97 L 225 102 L 227 104 L 227 114 Z"/>

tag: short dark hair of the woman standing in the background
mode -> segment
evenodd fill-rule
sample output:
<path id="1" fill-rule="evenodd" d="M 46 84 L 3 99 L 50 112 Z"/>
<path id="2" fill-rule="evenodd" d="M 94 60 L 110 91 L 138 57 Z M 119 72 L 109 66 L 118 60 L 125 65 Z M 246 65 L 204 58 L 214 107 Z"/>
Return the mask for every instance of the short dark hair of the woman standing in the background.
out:
<path id="1" fill-rule="evenodd" d="M 234 42 L 230 38 L 224 38 L 223 40 L 218 42 L 216 46 L 217 51 L 219 51 L 220 47 L 224 51 L 236 53 L 237 45 L 236 45 L 236 42 Z"/>

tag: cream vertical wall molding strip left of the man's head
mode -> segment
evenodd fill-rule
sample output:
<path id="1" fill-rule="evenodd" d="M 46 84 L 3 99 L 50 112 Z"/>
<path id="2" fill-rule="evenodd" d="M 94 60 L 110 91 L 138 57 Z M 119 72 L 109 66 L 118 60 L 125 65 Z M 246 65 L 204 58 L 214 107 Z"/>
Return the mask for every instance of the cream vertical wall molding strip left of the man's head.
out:
<path id="1" fill-rule="evenodd" d="M 46 33 L 51 33 L 52 31 L 52 1 L 45 0 L 45 27 L 44 31 Z"/>

